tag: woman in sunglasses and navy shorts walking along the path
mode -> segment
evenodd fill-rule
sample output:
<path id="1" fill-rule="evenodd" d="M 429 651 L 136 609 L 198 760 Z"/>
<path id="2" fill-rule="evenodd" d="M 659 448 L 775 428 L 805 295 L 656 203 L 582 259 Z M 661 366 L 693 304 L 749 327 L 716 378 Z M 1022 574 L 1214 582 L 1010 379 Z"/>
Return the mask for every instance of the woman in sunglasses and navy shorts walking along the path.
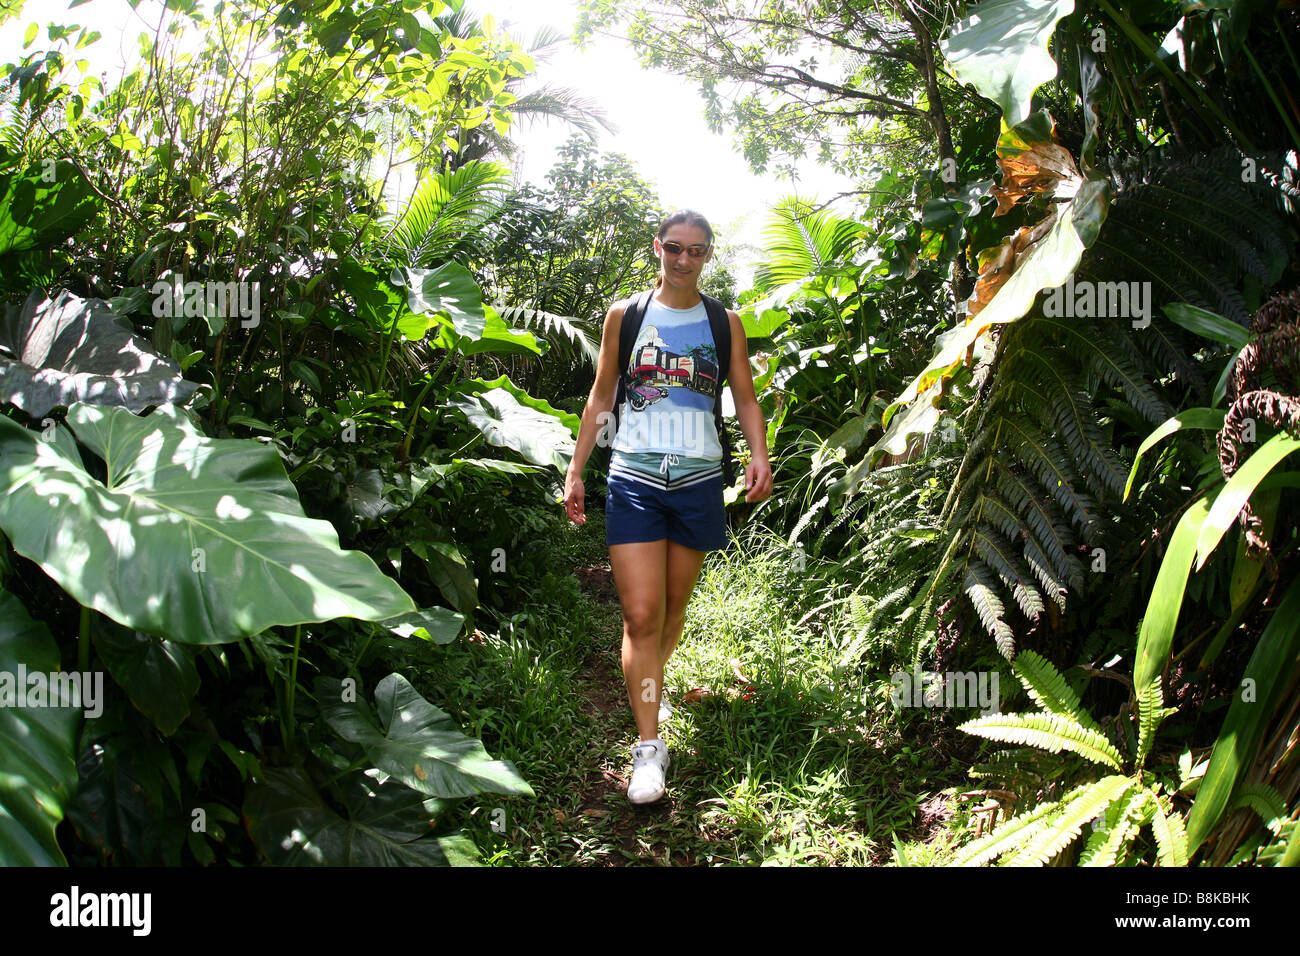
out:
<path id="1" fill-rule="evenodd" d="M 645 300 L 630 362 L 618 367 L 624 310 L 634 300 L 625 299 L 604 316 L 595 382 L 564 480 L 566 514 L 582 524 L 582 468 L 624 376 L 627 398 L 611 446 L 604 512 L 610 566 L 623 605 L 623 676 L 637 723 L 628 784 L 634 804 L 654 803 L 664 793 L 668 748 L 659 737 L 659 722 L 668 714 L 662 701 L 664 665 L 681 637 L 705 554 L 727 544 L 723 447 L 714 418 L 724 384 L 731 385 L 750 447 L 745 501 L 759 502 L 772 493 L 767 425 L 754 394 L 745 328 L 731 310 L 725 310 L 729 381 L 719 381 L 708 308 L 699 293 L 699 273 L 712 259 L 712 246 L 714 232 L 698 212 L 673 212 L 659 226 L 654 241 L 659 281 Z"/>

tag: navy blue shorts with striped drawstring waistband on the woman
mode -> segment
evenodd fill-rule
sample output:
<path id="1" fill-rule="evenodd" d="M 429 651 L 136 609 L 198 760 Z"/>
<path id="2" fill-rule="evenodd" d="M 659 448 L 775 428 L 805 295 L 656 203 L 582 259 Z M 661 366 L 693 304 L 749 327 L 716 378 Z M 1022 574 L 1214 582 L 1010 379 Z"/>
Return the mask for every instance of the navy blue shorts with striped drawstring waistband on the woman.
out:
<path id="1" fill-rule="evenodd" d="M 606 545 L 668 538 L 697 551 L 727 546 L 720 470 L 668 480 L 611 466 L 606 489 Z"/>

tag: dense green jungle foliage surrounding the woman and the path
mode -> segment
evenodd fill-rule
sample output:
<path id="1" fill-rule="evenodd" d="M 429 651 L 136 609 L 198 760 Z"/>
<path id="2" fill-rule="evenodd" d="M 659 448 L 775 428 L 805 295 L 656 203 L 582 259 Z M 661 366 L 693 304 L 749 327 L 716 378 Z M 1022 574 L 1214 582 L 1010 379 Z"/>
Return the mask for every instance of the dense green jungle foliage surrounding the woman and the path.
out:
<path id="1" fill-rule="evenodd" d="M 744 858 L 1295 862 L 1295 9 L 585 7 L 755 169 L 859 185 L 770 196 L 734 298 L 776 492 L 729 492 L 762 581 L 694 613 L 763 666 L 685 666 L 740 679 L 727 740 L 755 695 L 806 740 L 801 819 L 837 834 Z M 168 8 L 112 86 L 94 34 L 35 25 L 0 83 L 0 675 L 40 678 L 0 687 L 0 860 L 499 857 L 502 808 L 550 799 L 516 761 L 569 786 L 529 641 L 594 666 L 558 632 L 554 501 L 662 206 L 582 137 L 511 183 L 514 122 L 599 121 L 520 95 L 554 36 L 429 0 Z M 887 706 L 923 667 L 1028 700 Z M 69 674 L 108 680 L 56 698 Z M 941 839 L 878 805 L 923 786 L 920 739 L 979 780 Z M 914 777 L 866 780 L 880 748 Z M 737 831 L 771 818 L 727 786 L 699 799 Z"/>

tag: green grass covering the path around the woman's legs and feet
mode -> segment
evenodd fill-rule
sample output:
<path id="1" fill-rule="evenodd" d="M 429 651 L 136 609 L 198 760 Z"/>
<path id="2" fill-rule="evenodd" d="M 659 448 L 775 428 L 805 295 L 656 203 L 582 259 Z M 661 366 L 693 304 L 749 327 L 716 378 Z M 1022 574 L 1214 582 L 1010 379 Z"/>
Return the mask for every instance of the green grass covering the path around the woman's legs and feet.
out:
<path id="1" fill-rule="evenodd" d="M 560 531 L 556 563 L 604 562 L 603 540 L 594 509 L 585 527 Z M 916 721 L 892 710 L 888 675 L 845 653 L 848 628 L 794 624 L 815 600 L 806 578 L 771 545 L 708 557 L 666 674 L 675 708 L 660 727 L 672 754 L 668 795 L 646 808 L 623 792 L 636 728 L 616 604 L 555 588 L 498 633 L 422 656 L 417 687 L 537 792 L 463 806 L 484 858 L 868 865 L 890 861 L 896 832 L 923 836 L 918 809 L 962 784 L 962 765 L 905 730 Z M 696 688 L 702 698 L 684 704 Z M 910 858 L 927 855 L 924 844 L 909 845 Z"/>

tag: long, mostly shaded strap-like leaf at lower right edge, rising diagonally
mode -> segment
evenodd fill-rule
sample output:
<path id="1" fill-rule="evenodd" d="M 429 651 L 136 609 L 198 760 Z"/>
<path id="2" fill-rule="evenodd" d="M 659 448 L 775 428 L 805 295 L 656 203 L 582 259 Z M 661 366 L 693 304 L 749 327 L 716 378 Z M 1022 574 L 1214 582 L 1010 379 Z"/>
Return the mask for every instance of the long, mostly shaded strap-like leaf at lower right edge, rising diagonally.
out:
<path id="1" fill-rule="evenodd" d="M 1269 618 L 1254 653 L 1245 665 L 1242 687 L 1219 728 L 1210 765 L 1196 791 L 1196 803 L 1187 814 L 1188 853 L 1209 836 L 1227 809 L 1236 782 L 1258 754 L 1260 739 L 1278 704 L 1282 688 L 1295 674 L 1300 656 L 1300 578 L 1291 581 L 1286 596 Z M 1248 692 L 1249 688 L 1249 692 Z"/>

